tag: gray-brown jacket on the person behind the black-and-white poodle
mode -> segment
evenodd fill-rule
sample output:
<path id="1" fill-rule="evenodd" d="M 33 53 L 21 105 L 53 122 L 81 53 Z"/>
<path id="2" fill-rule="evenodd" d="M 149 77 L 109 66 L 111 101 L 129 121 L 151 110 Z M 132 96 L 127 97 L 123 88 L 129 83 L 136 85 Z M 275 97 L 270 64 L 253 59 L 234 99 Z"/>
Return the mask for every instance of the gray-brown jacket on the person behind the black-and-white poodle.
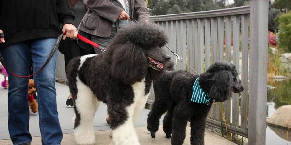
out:
<path id="1" fill-rule="evenodd" d="M 95 36 L 109 37 L 112 23 L 116 22 L 123 9 L 114 5 L 112 0 L 84 0 L 84 4 L 88 11 L 78 29 Z M 130 4 L 133 19 L 138 21 L 149 19 L 146 0 L 130 0 Z"/>

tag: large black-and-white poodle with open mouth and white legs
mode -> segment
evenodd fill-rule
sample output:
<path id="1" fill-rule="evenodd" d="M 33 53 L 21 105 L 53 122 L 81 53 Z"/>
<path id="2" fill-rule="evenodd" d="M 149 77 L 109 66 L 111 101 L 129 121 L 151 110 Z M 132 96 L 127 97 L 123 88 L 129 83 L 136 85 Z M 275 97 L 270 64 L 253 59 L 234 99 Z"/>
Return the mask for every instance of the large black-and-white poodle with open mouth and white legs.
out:
<path id="1" fill-rule="evenodd" d="M 74 100 L 77 144 L 95 143 L 93 117 L 100 102 L 107 104 L 115 145 L 139 145 L 134 121 L 149 90 L 170 56 L 161 48 L 167 36 L 153 23 L 129 24 L 100 55 L 72 59 L 66 74 Z"/>

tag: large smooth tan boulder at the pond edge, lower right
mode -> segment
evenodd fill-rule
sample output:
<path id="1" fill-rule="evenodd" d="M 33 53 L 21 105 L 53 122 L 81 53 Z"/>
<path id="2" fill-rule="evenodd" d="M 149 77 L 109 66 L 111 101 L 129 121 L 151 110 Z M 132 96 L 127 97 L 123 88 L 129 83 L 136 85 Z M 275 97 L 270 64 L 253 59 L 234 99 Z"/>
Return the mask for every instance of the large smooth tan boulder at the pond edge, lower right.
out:
<path id="1" fill-rule="evenodd" d="M 267 119 L 268 125 L 291 128 L 291 105 L 281 106 Z"/>

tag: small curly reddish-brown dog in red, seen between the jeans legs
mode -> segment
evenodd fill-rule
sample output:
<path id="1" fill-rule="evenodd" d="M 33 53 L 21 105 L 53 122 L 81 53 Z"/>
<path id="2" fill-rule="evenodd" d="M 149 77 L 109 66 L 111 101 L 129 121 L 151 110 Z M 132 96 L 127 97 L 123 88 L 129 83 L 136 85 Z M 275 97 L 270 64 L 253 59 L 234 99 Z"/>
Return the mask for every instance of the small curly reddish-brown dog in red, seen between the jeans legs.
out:
<path id="1" fill-rule="evenodd" d="M 33 96 L 35 93 L 36 93 L 36 88 L 34 86 L 34 81 L 33 79 L 29 79 L 27 96 L 28 96 L 29 107 L 31 108 L 33 113 L 36 113 L 38 111 L 37 102 Z"/>

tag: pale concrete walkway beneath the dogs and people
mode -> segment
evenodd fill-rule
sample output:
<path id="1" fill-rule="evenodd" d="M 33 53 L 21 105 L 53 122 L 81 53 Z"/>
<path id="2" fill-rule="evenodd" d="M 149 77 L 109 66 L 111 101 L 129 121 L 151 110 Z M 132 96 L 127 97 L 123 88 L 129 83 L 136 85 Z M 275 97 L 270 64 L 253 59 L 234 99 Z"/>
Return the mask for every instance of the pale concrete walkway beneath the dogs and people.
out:
<path id="1" fill-rule="evenodd" d="M 2 82 L 3 77 L 0 75 L 0 82 Z M 0 87 L 0 145 L 12 145 L 9 139 L 7 120 L 7 89 Z M 62 140 L 62 145 L 76 145 L 73 136 L 73 108 L 67 108 L 65 101 L 69 94 L 68 86 L 60 83 L 56 83 L 57 92 L 57 106 L 59 112 L 59 120 L 61 124 L 62 131 L 64 133 L 64 138 Z M 110 127 L 105 121 L 107 107 L 105 104 L 101 104 L 94 117 L 94 130 L 96 131 L 96 144 L 95 145 L 108 145 L 109 143 L 109 130 Z M 165 134 L 162 131 L 162 125 L 159 131 L 156 133 L 156 138 L 152 139 L 150 137 L 149 131 L 146 129 L 146 119 L 149 110 L 144 109 L 139 117 L 136 127 L 136 132 L 139 136 L 141 145 L 170 145 L 170 139 L 165 138 Z M 163 118 L 163 117 L 161 117 Z M 162 124 L 162 119 L 160 119 L 160 124 Z M 30 113 L 30 133 L 32 135 L 32 145 L 41 145 L 40 131 L 38 126 L 38 113 Z M 187 127 L 187 136 L 183 145 L 190 145 L 190 128 Z M 216 135 L 210 131 L 205 132 L 205 145 L 236 145 L 219 135 Z"/>

